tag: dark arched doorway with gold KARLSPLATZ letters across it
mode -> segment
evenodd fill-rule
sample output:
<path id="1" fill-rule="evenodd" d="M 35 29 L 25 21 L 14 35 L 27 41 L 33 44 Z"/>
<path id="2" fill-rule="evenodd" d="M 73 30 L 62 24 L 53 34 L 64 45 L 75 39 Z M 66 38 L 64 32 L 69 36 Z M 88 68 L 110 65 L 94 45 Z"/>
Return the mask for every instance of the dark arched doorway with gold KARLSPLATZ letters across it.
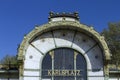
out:
<path id="1" fill-rule="evenodd" d="M 42 60 L 42 80 L 87 80 L 84 56 L 70 48 L 48 52 Z"/>

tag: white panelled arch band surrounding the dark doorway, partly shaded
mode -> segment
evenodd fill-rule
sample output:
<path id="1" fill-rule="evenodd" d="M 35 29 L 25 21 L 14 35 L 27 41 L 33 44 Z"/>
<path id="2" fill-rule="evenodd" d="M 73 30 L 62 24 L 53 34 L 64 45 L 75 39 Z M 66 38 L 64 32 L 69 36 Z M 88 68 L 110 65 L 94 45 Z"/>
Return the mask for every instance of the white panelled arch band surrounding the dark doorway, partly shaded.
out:
<path id="1" fill-rule="evenodd" d="M 85 57 L 88 80 L 104 80 L 103 53 L 98 42 L 79 31 L 67 29 L 46 32 L 29 44 L 23 80 L 50 80 L 41 79 L 42 59 L 47 52 L 62 47 L 74 49 Z"/>

